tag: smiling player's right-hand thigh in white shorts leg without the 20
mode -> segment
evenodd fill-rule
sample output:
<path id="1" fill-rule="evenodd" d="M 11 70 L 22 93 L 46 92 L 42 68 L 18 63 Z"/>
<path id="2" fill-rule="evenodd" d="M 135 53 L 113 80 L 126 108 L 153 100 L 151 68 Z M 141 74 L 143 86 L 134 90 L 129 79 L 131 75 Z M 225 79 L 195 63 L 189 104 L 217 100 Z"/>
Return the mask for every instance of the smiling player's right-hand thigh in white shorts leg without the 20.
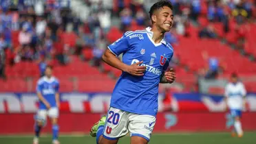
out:
<path id="1" fill-rule="evenodd" d="M 131 144 L 148 143 L 156 123 L 156 117 L 131 114 L 129 119 L 128 130 L 131 133 Z"/>

